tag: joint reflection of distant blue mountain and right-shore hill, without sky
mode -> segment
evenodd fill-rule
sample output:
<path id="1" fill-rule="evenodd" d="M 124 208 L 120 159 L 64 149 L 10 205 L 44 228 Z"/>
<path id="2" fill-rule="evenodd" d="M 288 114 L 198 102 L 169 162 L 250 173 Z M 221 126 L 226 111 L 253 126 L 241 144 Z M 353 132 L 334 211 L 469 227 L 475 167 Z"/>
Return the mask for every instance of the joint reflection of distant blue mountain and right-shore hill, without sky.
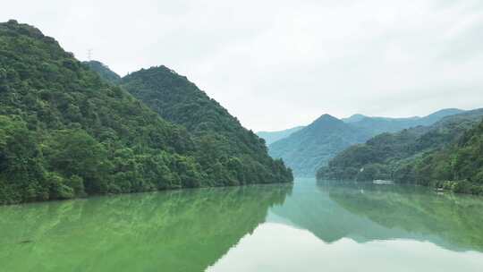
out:
<path id="1" fill-rule="evenodd" d="M 300 181 L 272 222 L 324 242 L 412 239 L 452 251 L 483 251 L 483 199 L 416 186 Z"/>

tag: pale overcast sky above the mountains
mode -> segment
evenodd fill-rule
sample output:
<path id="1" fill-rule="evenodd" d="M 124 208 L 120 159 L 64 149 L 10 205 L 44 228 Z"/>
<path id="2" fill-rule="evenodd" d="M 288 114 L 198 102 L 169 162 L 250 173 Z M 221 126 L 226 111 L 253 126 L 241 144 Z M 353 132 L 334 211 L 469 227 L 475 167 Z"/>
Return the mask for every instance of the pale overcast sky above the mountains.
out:
<path id="1" fill-rule="evenodd" d="M 483 107 L 481 0 L 5 1 L 80 60 L 164 64 L 243 125 Z"/>

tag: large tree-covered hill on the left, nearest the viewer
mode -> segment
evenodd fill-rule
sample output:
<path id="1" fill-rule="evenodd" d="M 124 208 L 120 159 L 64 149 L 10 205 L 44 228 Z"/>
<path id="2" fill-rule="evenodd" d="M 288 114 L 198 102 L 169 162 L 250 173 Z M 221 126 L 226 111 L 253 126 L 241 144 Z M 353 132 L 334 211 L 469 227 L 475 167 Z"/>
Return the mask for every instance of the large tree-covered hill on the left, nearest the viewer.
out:
<path id="1" fill-rule="evenodd" d="M 165 121 L 54 38 L 0 23 L 0 203 L 292 179 L 280 161 L 242 164 L 263 150 L 212 156 L 220 136 L 204 135 Z"/>

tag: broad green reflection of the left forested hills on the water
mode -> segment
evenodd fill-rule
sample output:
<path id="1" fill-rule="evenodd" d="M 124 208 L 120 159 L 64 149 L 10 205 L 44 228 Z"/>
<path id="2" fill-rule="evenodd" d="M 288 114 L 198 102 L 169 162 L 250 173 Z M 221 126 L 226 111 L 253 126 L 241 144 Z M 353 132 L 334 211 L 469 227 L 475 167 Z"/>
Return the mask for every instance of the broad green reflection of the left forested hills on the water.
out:
<path id="1" fill-rule="evenodd" d="M 291 185 L 165 191 L 0 208 L 0 271 L 203 271 Z"/>

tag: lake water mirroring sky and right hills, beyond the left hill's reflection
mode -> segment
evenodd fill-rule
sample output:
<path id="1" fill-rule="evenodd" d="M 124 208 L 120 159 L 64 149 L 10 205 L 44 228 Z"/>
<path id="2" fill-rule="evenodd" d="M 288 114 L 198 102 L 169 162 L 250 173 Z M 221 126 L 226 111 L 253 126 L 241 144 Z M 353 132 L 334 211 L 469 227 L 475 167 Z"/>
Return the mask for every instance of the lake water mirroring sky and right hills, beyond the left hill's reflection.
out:
<path id="1" fill-rule="evenodd" d="M 208 271 L 479 272 L 482 211 L 424 188 L 298 180 Z"/>

